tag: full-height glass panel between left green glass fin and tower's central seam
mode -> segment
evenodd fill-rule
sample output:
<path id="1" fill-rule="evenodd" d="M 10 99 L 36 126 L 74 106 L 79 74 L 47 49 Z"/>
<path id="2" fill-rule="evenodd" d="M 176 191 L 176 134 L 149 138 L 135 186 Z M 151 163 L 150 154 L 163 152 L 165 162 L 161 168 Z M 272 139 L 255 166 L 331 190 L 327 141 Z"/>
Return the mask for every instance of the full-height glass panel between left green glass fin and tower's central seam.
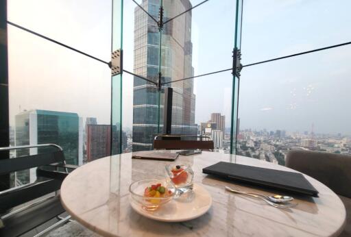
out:
<path id="1" fill-rule="evenodd" d="M 158 19 L 159 0 L 137 1 Z M 158 82 L 159 32 L 157 23 L 133 1 L 124 2 L 123 66 L 125 70 Z M 123 129 L 128 134 L 125 151 L 152 149 L 158 133 L 156 84 L 123 73 Z"/>

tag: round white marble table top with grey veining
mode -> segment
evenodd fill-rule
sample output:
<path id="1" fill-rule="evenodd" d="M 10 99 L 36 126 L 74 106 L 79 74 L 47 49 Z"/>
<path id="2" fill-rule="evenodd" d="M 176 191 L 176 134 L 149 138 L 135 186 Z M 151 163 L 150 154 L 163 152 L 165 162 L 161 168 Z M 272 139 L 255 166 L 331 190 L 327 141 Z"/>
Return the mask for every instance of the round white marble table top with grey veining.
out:
<path id="1" fill-rule="evenodd" d="M 134 212 L 129 204 L 129 185 L 138 179 L 165 175 L 167 161 L 132 159 L 132 153 L 113 155 L 84 164 L 73 171 L 61 187 L 64 208 L 73 219 L 102 236 L 337 236 L 343 229 L 346 210 L 332 190 L 305 175 L 319 191 L 319 197 L 295 197 L 295 208 L 279 209 L 267 203 L 224 190 L 272 194 L 254 188 L 207 177 L 202 169 L 219 161 L 293 171 L 284 166 L 239 155 L 203 152 L 180 156 L 190 162 L 195 182 L 213 197 L 210 210 L 198 219 L 183 223 L 162 223 Z"/>

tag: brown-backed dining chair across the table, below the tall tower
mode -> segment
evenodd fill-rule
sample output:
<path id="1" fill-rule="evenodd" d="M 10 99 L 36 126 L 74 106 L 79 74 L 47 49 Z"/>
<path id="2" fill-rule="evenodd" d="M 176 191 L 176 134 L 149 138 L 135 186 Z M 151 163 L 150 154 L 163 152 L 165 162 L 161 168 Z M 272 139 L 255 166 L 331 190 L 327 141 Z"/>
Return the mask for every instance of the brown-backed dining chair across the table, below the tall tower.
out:
<path id="1" fill-rule="evenodd" d="M 193 138 L 200 140 L 191 140 Z M 154 149 L 201 149 L 204 151 L 210 151 L 214 149 L 214 144 L 213 140 L 210 140 L 208 136 L 164 134 L 155 136 Z"/>

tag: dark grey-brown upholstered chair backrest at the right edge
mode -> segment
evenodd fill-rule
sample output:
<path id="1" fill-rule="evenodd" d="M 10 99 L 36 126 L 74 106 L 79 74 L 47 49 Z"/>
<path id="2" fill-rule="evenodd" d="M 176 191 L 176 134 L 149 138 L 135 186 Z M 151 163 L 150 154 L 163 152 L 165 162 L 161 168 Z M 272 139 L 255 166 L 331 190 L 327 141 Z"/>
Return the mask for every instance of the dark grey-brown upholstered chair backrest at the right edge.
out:
<path id="1" fill-rule="evenodd" d="M 351 197 L 351 155 L 291 150 L 285 164 L 317 179 L 338 195 Z"/>

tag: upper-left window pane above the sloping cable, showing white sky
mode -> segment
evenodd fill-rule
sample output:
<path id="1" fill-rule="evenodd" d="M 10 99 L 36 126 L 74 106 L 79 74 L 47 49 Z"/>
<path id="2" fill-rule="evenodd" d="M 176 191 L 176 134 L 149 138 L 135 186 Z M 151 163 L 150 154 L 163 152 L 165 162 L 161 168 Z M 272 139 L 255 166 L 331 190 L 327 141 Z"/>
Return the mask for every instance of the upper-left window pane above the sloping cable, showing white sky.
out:
<path id="1" fill-rule="evenodd" d="M 10 0 L 8 21 L 110 61 L 112 1 Z"/>

